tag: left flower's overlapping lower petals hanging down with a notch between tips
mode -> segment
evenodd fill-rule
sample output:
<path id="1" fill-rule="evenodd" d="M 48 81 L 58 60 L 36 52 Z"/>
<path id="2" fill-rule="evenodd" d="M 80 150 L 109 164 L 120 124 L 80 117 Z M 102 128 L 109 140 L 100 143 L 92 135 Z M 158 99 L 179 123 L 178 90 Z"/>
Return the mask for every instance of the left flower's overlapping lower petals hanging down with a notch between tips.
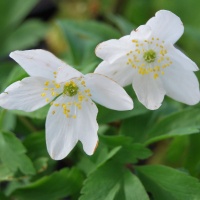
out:
<path id="1" fill-rule="evenodd" d="M 88 99 L 82 102 L 78 109 L 72 102 L 77 96 L 60 96 L 51 106 L 46 120 L 46 143 L 50 156 L 55 160 L 66 157 L 74 148 L 78 140 L 88 155 L 94 153 L 97 145 L 98 124 L 96 122 L 96 105 Z M 72 103 L 70 116 L 63 113 L 63 104 Z"/>

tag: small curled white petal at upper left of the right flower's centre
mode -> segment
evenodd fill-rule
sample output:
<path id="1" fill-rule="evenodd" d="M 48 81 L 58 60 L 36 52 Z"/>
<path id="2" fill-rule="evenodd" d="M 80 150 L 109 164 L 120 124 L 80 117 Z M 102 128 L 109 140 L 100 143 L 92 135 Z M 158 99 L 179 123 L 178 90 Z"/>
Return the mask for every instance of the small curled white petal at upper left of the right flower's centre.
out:
<path id="1" fill-rule="evenodd" d="M 131 32 L 131 39 L 142 40 L 149 39 L 152 35 L 151 27 L 147 25 L 139 26 L 135 31 Z"/>

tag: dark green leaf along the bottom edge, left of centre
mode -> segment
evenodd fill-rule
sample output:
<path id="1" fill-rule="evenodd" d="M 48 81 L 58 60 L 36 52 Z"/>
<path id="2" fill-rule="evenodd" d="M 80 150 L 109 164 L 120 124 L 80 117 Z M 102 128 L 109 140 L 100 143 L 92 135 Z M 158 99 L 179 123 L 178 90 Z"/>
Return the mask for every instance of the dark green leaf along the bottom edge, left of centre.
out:
<path id="1" fill-rule="evenodd" d="M 11 197 L 20 200 L 61 199 L 78 194 L 82 182 L 83 176 L 79 170 L 65 168 L 15 190 Z"/>

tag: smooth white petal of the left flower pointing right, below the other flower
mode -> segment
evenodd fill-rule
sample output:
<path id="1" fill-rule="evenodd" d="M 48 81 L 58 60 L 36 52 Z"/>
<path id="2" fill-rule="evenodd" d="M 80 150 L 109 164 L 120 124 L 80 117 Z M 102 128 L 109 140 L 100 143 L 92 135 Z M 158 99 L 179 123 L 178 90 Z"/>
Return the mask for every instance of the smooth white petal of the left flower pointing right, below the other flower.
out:
<path id="1" fill-rule="evenodd" d="M 101 74 L 87 74 L 86 87 L 90 89 L 92 99 L 113 110 L 131 110 L 133 101 L 126 91 L 108 77 Z"/>

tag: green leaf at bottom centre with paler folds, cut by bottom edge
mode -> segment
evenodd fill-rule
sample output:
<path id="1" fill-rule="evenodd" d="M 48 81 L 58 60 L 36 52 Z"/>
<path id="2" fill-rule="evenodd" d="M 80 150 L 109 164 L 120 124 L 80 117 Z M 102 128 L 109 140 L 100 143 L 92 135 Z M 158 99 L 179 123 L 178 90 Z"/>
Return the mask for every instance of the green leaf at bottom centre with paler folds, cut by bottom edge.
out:
<path id="1" fill-rule="evenodd" d="M 127 197 L 126 200 L 148 200 L 139 179 L 116 162 L 108 162 L 91 173 L 81 193 L 79 200 L 125 199 L 123 196 Z"/>

